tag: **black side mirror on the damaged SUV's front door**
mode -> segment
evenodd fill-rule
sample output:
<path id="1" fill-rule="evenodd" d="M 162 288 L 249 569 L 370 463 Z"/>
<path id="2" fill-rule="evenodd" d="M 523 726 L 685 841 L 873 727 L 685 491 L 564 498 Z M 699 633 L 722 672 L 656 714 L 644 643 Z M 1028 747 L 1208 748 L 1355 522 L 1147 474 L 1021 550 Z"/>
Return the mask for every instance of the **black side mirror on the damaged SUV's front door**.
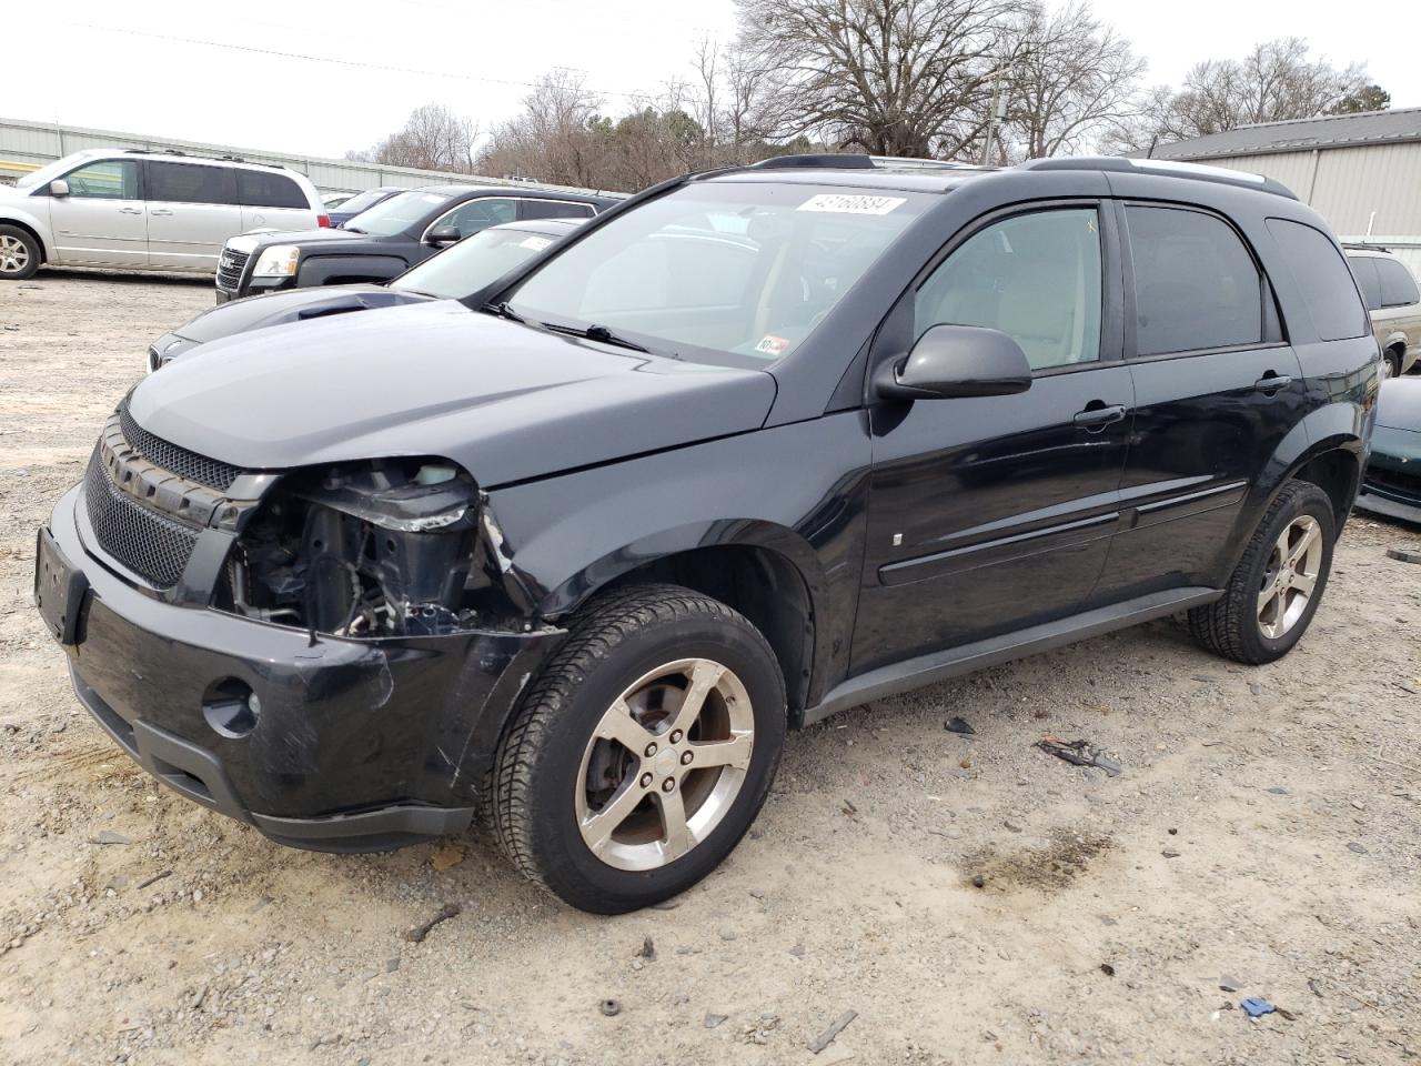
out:
<path id="1" fill-rule="evenodd" d="M 999 330 L 934 325 L 905 360 L 885 362 L 874 388 L 885 399 L 1010 397 L 1032 387 L 1032 364 Z"/>

